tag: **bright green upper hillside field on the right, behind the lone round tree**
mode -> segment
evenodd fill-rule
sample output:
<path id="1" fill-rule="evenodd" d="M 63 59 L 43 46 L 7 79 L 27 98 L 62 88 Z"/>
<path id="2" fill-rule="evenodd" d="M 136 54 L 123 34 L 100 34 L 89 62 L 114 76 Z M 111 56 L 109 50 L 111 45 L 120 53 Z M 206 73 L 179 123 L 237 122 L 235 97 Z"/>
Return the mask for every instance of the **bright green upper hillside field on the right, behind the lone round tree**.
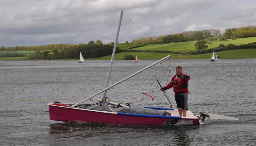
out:
<path id="1" fill-rule="evenodd" d="M 139 48 L 134 48 L 134 50 L 167 50 L 167 51 L 175 51 L 175 52 L 189 52 L 189 51 L 195 51 L 195 44 L 197 41 L 191 41 L 191 42 L 180 42 L 180 43 L 170 43 L 170 44 L 149 44 L 144 45 Z M 228 39 L 227 41 L 210 41 L 212 44 L 206 44 L 208 45 L 208 49 L 214 48 L 219 46 L 220 44 L 228 45 L 228 44 L 234 44 L 234 45 L 241 45 L 241 44 L 248 44 L 252 42 L 256 42 L 256 37 L 251 38 L 237 38 L 236 40 Z"/>

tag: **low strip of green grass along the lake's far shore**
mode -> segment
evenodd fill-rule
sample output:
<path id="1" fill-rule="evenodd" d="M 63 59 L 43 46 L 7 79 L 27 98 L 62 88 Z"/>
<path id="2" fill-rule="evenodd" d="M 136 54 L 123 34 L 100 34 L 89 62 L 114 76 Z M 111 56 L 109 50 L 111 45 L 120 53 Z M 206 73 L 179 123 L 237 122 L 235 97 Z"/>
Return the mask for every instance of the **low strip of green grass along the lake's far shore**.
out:
<path id="1" fill-rule="evenodd" d="M 211 53 L 196 54 L 196 55 L 183 55 L 174 53 L 156 53 L 156 52 L 121 52 L 115 54 L 115 60 L 124 60 L 125 55 L 132 55 L 138 57 L 138 60 L 159 60 L 171 54 L 173 59 L 210 59 Z M 218 59 L 250 59 L 256 58 L 256 48 L 253 49 L 236 49 L 216 52 Z M 85 58 L 84 60 L 111 60 L 112 55 L 102 56 L 99 58 Z M 50 59 L 27 59 L 24 57 L 0 57 L 0 61 L 13 61 L 13 60 L 50 60 Z M 53 60 L 79 60 L 79 59 L 53 59 Z"/>

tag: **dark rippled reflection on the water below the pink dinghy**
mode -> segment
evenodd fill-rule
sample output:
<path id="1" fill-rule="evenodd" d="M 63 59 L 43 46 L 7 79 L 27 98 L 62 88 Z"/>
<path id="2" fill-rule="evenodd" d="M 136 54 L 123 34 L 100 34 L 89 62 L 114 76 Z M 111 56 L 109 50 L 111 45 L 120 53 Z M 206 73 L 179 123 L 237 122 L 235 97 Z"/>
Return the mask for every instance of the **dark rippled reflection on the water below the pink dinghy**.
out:
<path id="1" fill-rule="evenodd" d="M 176 143 L 177 145 L 190 145 L 192 131 L 200 129 L 200 126 L 136 126 L 136 125 L 108 125 L 98 123 L 55 123 L 50 125 L 49 134 L 59 135 L 65 139 L 112 139 L 110 135 L 118 135 L 119 139 L 130 139 L 141 136 L 157 136 L 168 138 L 165 144 Z M 126 134 L 132 135 L 127 137 Z M 146 135 L 145 135 L 146 134 Z M 158 136 L 159 137 L 159 136 Z M 156 137 L 157 138 L 157 137 Z M 143 139 L 143 138 L 142 138 Z M 135 142 L 135 141 L 134 141 Z M 145 142 L 143 142 L 145 143 Z M 136 144 L 136 143 L 133 143 Z M 138 144 L 138 143 L 137 143 Z M 150 145 L 150 144 L 149 144 Z"/>

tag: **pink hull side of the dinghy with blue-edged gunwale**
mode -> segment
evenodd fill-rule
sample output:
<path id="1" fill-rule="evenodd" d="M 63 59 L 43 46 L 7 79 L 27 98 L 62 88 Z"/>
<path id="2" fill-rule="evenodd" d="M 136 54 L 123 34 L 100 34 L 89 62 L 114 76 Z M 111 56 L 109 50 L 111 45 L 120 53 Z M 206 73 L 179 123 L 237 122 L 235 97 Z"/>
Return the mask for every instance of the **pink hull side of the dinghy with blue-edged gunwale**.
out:
<path id="1" fill-rule="evenodd" d="M 140 115 L 95 111 L 81 108 L 70 108 L 48 104 L 50 120 L 62 122 L 93 122 L 124 125 L 198 125 L 198 118 L 179 116 Z"/>

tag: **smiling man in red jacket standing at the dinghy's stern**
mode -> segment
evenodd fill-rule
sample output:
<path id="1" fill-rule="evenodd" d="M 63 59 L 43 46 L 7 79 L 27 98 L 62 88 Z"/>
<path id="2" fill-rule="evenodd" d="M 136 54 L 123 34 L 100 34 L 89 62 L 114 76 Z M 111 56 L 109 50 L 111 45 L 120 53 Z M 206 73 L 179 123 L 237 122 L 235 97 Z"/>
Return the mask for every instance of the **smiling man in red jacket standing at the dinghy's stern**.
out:
<path id="1" fill-rule="evenodd" d="M 162 91 L 173 87 L 175 101 L 178 107 L 180 116 L 186 116 L 188 110 L 188 80 L 190 76 L 182 73 L 180 66 L 176 67 L 176 74 L 172 77 L 171 82 L 165 87 L 161 88 Z"/>

